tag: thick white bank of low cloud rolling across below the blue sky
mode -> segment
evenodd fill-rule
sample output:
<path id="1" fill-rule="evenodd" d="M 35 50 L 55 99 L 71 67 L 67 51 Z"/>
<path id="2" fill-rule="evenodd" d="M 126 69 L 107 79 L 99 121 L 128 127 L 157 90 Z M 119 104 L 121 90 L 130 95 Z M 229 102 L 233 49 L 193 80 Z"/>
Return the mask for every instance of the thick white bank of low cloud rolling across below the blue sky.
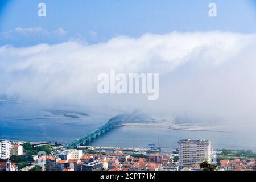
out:
<path id="1" fill-rule="evenodd" d="M 18 30 L 19 31 L 19 30 Z M 23 31 L 23 30 L 22 30 Z M 199 120 L 255 123 L 256 35 L 172 32 L 106 43 L 0 48 L 0 94 L 117 109 L 161 109 Z M 160 73 L 159 100 L 100 95 L 97 75 Z"/>

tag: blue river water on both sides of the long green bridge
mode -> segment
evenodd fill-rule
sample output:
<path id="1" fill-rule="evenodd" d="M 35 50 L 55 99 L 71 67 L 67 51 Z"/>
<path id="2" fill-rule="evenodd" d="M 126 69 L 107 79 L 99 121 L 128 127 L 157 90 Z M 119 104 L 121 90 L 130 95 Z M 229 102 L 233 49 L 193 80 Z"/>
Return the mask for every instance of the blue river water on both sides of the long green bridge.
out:
<path id="1" fill-rule="evenodd" d="M 58 106 L 59 108 L 60 106 Z M 56 108 L 56 106 L 54 106 Z M 52 108 L 51 108 L 52 109 Z M 71 110 L 69 106 L 61 109 Z M 0 139 L 72 142 L 82 135 L 108 122 L 119 111 L 76 108 L 89 116 L 64 117 L 31 104 L 0 102 Z M 166 126 L 128 125 L 119 127 L 94 140 L 92 146 L 110 147 L 156 147 L 177 148 L 180 139 L 210 140 L 213 148 L 245 149 L 256 151 L 255 129 L 239 127 L 235 132 L 171 130 Z M 159 142 L 158 142 L 159 139 Z M 172 149 L 165 149 L 170 152 Z"/>

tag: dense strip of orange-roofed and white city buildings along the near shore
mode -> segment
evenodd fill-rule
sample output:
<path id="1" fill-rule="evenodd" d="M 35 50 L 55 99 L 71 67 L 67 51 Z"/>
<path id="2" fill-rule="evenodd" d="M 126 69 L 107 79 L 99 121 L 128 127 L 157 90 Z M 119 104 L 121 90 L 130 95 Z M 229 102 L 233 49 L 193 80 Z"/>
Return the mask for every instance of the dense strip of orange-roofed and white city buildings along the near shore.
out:
<path id="1" fill-rule="evenodd" d="M 53 150 L 50 156 L 38 156 L 21 154 L 22 146 L 16 142 L 13 143 L 14 145 L 11 146 L 12 142 L 1 142 L 1 156 L 6 158 L 10 153 L 23 158 L 31 159 L 32 157 L 35 163 L 34 160 L 27 161 L 27 166 L 40 166 L 43 171 L 201 171 L 203 169 L 200 168 L 200 164 L 205 161 L 218 164 L 217 170 L 220 171 L 256 170 L 255 159 L 238 155 L 236 152 L 231 153 L 232 155 L 224 155 L 222 151 L 213 151 L 211 142 L 203 138 L 179 140 L 179 154 L 152 153 L 143 154 L 141 157 L 136 152 L 134 154 L 123 154 L 122 151 L 108 154 L 98 151 L 85 153 L 82 150 L 64 150 L 64 148 Z M 220 155 L 221 159 L 225 159 L 224 156 L 228 159 L 220 160 Z M 250 153 L 250 156 L 252 155 L 254 155 L 253 152 Z M 0 163 L 0 171 L 18 170 L 19 163 L 6 159 Z M 28 169 L 30 168 L 19 168 L 19 170 Z"/>

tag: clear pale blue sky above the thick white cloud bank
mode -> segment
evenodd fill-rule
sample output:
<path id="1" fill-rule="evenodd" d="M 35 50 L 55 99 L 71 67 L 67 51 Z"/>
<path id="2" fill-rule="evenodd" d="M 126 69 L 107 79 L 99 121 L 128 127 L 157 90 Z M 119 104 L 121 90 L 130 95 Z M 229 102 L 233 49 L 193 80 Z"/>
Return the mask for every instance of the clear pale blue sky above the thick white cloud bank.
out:
<path id="1" fill-rule="evenodd" d="M 37 15 L 40 2 L 46 3 L 45 18 Z M 217 4 L 216 18 L 208 16 L 210 2 Z M 256 30 L 255 10 L 254 0 L 1 0 L 0 45 L 54 44 L 71 38 L 98 43 L 117 35 L 138 37 L 145 33 L 172 31 L 253 33 Z M 48 32 L 63 28 L 65 35 L 3 36 L 3 32 L 17 27 L 42 27 Z"/>

